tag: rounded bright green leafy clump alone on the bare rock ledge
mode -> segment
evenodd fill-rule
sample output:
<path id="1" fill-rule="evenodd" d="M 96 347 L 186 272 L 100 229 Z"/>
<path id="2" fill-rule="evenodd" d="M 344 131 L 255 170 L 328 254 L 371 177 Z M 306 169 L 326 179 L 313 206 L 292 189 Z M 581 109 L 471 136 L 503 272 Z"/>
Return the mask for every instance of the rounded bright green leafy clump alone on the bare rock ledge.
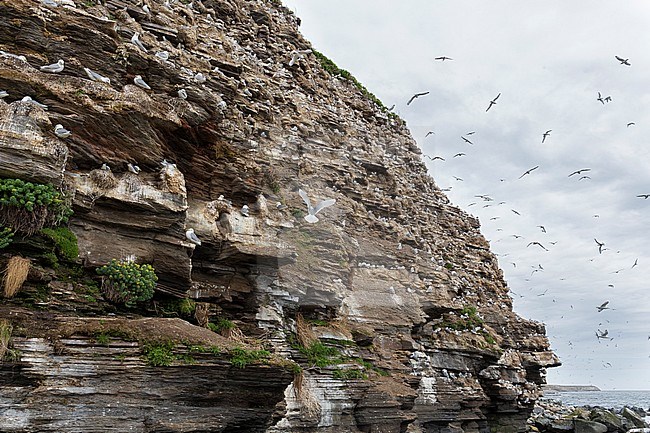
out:
<path id="1" fill-rule="evenodd" d="M 140 265 L 132 261 L 111 260 L 108 265 L 97 269 L 104 276 L 102 291 L 111 302 L 133 306 L 135 302 L 148 301 L 153 297 L 153 290 L 158 276 L 153 266 Z"/>

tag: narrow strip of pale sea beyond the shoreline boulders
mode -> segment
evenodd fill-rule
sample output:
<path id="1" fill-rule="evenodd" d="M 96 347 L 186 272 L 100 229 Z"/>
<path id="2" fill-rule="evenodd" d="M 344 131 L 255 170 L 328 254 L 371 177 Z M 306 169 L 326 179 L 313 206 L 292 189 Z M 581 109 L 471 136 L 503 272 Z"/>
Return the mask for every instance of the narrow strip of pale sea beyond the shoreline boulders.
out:
<path id="1" fill-rule="evenodd" d="M 623 406 L 640 407 L 650 411 L 649 391 L 580 391 L 544 393 L 545 399 L 559 400 L 569 406 L 601 406 L 621 409 Z"/>

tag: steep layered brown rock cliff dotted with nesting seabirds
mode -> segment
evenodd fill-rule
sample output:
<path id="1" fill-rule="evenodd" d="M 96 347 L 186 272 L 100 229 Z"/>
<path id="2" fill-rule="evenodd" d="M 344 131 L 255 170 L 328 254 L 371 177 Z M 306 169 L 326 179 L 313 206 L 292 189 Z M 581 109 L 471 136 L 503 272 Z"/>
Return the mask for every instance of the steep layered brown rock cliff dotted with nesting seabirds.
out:
<path id="1" fill-rule="evenodd" d="M 0 175 L 74 195 L 83 264 L 66 274 L 33 253 L 22 297 L 0 305 L 15 355 L 2 430 L 523 431 L 558 360 L 403 122 L 304 51 L 277 1 L 144 5 L 0 3 Z M 336 203 L 309 223 L 299 189 Z M 126 256 L 159 278 L 136 309 L 88 293 Z M 174 298 L 195 316 L 161 318 Z M 200 327 L 217 318 L 238 331 Z M 146 362 L 154 336 L 170 366 Z M 182 362 L 240 343 L 273 357 Z"/>

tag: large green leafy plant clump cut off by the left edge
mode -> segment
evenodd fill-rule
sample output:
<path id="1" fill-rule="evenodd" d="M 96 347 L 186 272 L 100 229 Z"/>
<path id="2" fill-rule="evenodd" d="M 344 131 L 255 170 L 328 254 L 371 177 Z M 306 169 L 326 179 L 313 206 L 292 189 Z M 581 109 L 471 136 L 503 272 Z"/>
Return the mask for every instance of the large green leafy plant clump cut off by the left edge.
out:
<path id="1" fill-rule="evenodd" d="M 68 221 L 72 209 L 51 184 L 0 179 L 0 224 L 33 235 L 45 226 Z"/>

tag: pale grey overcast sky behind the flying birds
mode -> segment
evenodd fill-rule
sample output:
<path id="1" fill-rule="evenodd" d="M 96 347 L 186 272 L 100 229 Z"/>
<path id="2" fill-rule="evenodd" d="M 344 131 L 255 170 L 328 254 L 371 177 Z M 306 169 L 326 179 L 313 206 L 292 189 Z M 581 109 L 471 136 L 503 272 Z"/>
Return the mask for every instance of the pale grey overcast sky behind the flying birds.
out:
<path id="1" fill-rule="evenodd" d="M 547 326 L 564 364 L 548 382 L 650 389 L 650 2 L 283 2 L 445 159 L 425 158 L 431 176 L 479 217 L 515 311 Z"/>

